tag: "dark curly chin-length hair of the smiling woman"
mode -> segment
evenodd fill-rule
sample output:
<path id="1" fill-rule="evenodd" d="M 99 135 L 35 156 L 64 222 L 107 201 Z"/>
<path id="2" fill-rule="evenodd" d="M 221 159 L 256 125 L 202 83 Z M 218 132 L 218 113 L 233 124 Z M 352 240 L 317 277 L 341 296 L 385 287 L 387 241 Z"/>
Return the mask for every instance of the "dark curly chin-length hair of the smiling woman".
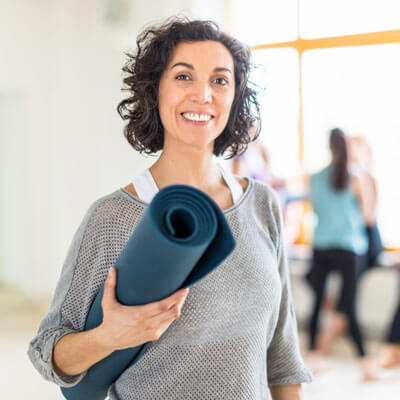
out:
<path id="1" fill-rule="evenodd" d="M 260 132 L 260 106 L 257 86 L 250 83 L 251 52 L 235 38 L 221 32 L 212 21 L 173 17 L 160 26 L 150 26 L 139 34 L 136 54 L 127 53 L 123 67 L 126 76 L 122 90 L 129 97 L 118 104 L 118 113 L 128 123 L 124 135 L 140 153 L 156 153 L 163 148 L 164 128 L 158 111 L 158 87 L 175 47 L 181 42 L 212 40 L 231 53 L 235 74 L 235 97 L 228 122 L 214 141 L 216 156 L 230 150 L 227 159 L 241 154 Z M 251 134 L 251 131 L 254 133 Z"/>

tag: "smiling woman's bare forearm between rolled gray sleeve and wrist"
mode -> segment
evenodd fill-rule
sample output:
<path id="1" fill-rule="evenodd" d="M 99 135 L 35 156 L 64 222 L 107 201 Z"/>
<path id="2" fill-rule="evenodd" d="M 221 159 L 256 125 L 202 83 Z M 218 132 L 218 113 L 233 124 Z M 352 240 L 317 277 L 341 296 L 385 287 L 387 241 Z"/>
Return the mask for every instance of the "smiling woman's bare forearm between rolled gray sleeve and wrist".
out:
<path id="1" fill-rule="evenodd" d="M 70 333 L 54 346 L 53 367 L 58 376 L 79 375 L 112 352 L 101 343 L 99 328 Z"/>

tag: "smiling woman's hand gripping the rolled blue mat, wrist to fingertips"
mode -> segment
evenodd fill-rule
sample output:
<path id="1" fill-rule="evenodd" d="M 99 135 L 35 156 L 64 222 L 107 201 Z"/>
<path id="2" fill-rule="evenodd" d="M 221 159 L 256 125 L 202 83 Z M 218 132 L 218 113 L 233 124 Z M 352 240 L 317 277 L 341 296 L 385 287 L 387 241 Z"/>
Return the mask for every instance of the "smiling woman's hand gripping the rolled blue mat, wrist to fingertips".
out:
<path id="1" fill-rule="evenodd" d="M 111 267 L 104 284 L 101 301 L 103 322 L 98 326 L 99 342 L 111 349 L 122 350 L 157 340 L 181 314 L 189 289 L 142 306 L 125 306 L 117 301 L 117 270 Z"/>

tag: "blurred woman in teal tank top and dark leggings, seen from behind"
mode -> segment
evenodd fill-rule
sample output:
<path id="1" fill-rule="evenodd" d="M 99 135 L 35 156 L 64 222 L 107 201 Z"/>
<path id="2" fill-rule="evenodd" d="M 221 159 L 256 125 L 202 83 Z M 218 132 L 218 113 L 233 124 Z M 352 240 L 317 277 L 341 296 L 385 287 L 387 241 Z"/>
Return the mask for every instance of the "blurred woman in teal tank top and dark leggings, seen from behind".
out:
<path id="1" fill-rule="evenodd" d="M 356 315 L 357 275 L 366 261 L 366 222 L 374 213 L 374 194 L 369 181 L 350 175 L 346 138 L 340 129 L 330 133 L 332 162 L 310 178 L 311 202 L 317 216 L 313 235 L 313 261 L 308 279 L 315 291 L 310 320 L 310 349 L 323 355 L 324 340 L 317 343 L 318 320 L 325 294 L 326 279 L 337 271 L 342 289 L 337 309 L 346 317 L 351 337 L 361 357 L 363 378 L 372 379 L 371 363 L 365 357 Z"/>

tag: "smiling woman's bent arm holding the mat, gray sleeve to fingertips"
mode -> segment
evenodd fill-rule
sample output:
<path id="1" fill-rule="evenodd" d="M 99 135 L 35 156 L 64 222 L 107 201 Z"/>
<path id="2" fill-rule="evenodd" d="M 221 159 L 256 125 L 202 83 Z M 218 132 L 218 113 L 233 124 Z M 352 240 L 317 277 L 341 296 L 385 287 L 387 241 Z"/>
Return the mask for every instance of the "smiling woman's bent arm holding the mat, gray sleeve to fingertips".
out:
<path id="1" fill-rule="evenodd" d="M 181 290 L 145 306 L 118 303 L 116 271 L 109 268 L 115 254 L 107 251 L 110 239 L 104 233 L 111 227 L 104 231 L 103 216 L 94 212 L 96 208 L 89 209 L 74 236 L 50 310 L 28 349 L 39 373 L 64 387 L 77 385 L 88 368 L 114 350 L 157 340 L 179 316 L 186 293 Z M 107 271 L 111 273 L 101 303 L 103 321 L 97 328 L 84 331 L 90 305 Z"/>

